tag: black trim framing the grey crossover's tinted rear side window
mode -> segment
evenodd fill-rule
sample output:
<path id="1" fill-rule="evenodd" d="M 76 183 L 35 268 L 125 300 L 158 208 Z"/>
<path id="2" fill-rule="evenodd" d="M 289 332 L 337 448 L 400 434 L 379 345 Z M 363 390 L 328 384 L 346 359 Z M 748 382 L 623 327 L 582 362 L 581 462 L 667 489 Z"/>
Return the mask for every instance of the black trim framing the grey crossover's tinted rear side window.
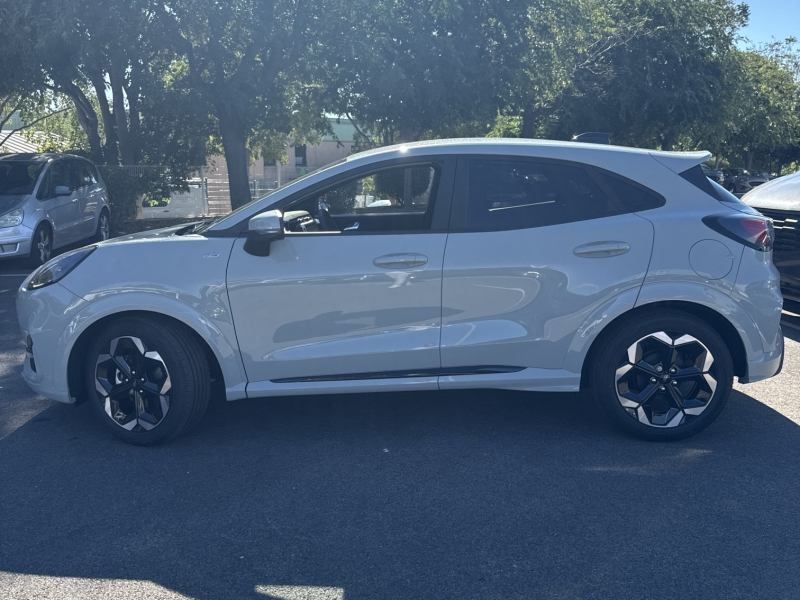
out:
<path id="1" fill-rule="evenodd" d="M 610 176 L 616 177 L 621 181 L 631 184 L 635 187 L 640 188 L 641 190 L 657 196 L 661 201 L 661 205 L 663 206 L 666 203 L 664 197 L 651 190 L 650 188 L 641 185 L 635 181 L 631 181 L 627 177 L 623 177 L 618 173 L 614 173 L 612 171 L 608 171 L 607 169 L 602 169 L 595 167 L 594 165 L 589 165 L 586 163 L 572 161 L 572 160 L 564 160 L 558 158 L 545 158 L 545 157 L 538 157 L 538 156 L 521 156 L 518 154 L 462 154 L 458 157 L 458 167 L 456 170 L 456 184 L 453 190 L 453 206 L 451 208 L 451 217 L 450 217 L 450 233 L 491 233 L 497 231 L 517 231 L 519 229 L 538 229 L 538 227 L 515 227 L 515 228 L 508 228 L 508 227 L 497 227 L 493 229 L 473 229 L 467 228 L 467 202 L 468 202 L 468 195 L 469 195 L 469 163 L 470 161 L 492 161 L 492 162 L 527 162 L 527 163 L 537 163 L 537 164 L 549 164 L 554 166 L 560 167 L 571 167 L 571 168 L 578 168 L 583 170 L 588 177 L 601 189 L 601 191 L 608 196 L 609 201 L 612 205 L 617 209 L 617 213 L 614 215 L 607 215 L 607 216 L 619 216 L 623 214 L 630 214 L 634 211 L 630 210 L 625 203 L 611 190 L 611 188 L 603 181 L 603 177 L 601 173 L 608 174 Z M 656 208 L 656 207 L 653 207 Z M 652 209 L 648 209 L 652 210 Z M 605 218 L 605 217 L 600 217 Z M 593 219 L 586 219 L 586 220 L 593 220 Z M 559 223 L 559 225 L 566 225 L 568 223 L 575 223 L 576 221 L 568 221 L 566 223 Z M 553 227 L 555 225 L 542 225 L 542 227 Z"/>

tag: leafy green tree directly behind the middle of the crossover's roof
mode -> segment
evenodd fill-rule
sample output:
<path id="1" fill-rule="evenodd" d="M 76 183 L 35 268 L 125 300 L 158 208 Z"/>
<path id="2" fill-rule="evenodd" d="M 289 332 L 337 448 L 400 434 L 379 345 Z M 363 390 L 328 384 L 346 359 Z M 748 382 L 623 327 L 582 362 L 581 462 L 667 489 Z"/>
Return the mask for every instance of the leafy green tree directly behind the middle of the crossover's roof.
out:
<path id="1" fill-rule="evenodd" d="M 500 42 L 493 39 L 493 4 L 352 2 L 335 51 L 341 60 L 329 64 L 338 112 L 385 144 L 490 122 L 498 84 L 492 46 Z"/>

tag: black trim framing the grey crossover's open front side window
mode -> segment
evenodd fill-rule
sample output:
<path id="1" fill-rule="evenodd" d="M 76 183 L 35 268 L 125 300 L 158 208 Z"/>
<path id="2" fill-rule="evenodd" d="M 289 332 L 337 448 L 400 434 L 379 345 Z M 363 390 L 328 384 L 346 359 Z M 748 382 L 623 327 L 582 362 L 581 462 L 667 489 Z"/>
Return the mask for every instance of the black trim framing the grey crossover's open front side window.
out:
<path id="1" fill-rule="evenodd" d="M 203 232 L 203 235 L 206 237 L 242 237 L 247 235 L 247 225 L 254 216 L 257 214 L 261 214 L 266 212 L 267 210 L 275 210 L 278 209 L 281 212 L 284 211 L 284 208 L 292 204 L 294 202 L 302 201 L 309 196 L 313 196 L 325 189 L 330 187 L 334 187 L 336 185 L 346 183 L 347 181 L 351 181 L 353 179 L 359 179 L 368 175 L 369 173 L 374 173 L 376 171 L 381 171 L 384 169 L 390 169 L 395 167 L 414 167 L 414 166 L 435 166 L 439 165 L 439 173 L 438 173 L 438 189 L 435 194 L 435 199 L 433 203 L 433 216 L 431 219 L 430 227 L 427 229 L 401 229 L 401 230 L 364 230 L 359 232 L 358 230 L 352 231 L 341 231 L 341 232 L 330 232 L 330 231 L 320 231 L 320 232 L 308 232 L 298 234 L 298 236 L 315 236 L 315 235 L 408 235 L 408 234 L 425 234 L 425 233 L 447 233 L 448 231 L 448 223 L 450 220 L 450 212 L 451 206 L 453 203 L 453 186 L 455 182 L 456 176 L 456 160 L 457 155 L 455 154 L 432 154 L 429 156 L 404 156 L 400 158 L 392 158 L 388 160 L 381 160 L 376 161 L 374 163 L 370 163 L 367 165 L 361 165 L 359 167 L 355 167 L 349 169 L 343 173 L 339 173 L 336 176 L 326 178 L 322 181 L 319 181 L 313 185 L 303 188 L 302 190 L 298 190 L 294 194 L 287 196 L 283 200 L 277 203 L 268 204 L 257 213 L 254 213 L 250 217 L 242 218 L 236 224 L 227 227 L 226 229 L 221 230 L 209 230 Z"/>

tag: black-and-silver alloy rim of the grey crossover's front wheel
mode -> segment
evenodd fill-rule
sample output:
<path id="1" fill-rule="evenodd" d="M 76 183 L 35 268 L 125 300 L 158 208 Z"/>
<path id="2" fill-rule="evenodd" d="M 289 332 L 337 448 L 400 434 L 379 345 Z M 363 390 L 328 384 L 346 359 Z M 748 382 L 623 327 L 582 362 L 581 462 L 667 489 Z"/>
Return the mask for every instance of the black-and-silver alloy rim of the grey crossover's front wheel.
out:
<path id="1" fill-rule="evenodd" d="M 95 388 L 108 417 L 128 431 L 150 431 L 169 412 L 167 365 L 137 337 L 111 340 L 108 352 L 97 358 Z"/>

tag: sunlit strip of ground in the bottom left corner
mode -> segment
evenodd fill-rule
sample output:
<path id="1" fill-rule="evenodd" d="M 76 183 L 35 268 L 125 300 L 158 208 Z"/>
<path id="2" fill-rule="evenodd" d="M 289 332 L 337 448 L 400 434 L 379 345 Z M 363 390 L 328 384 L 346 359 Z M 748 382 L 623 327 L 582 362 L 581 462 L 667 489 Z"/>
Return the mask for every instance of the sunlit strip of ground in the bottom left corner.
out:
<path id="1" fill-rule="evenodd" d="M 3 600 L 65 600 L 66 598 L 152 598 L 194 600 L 167 588 L 139 579 L 87 579 L 0 571 Z"/>

